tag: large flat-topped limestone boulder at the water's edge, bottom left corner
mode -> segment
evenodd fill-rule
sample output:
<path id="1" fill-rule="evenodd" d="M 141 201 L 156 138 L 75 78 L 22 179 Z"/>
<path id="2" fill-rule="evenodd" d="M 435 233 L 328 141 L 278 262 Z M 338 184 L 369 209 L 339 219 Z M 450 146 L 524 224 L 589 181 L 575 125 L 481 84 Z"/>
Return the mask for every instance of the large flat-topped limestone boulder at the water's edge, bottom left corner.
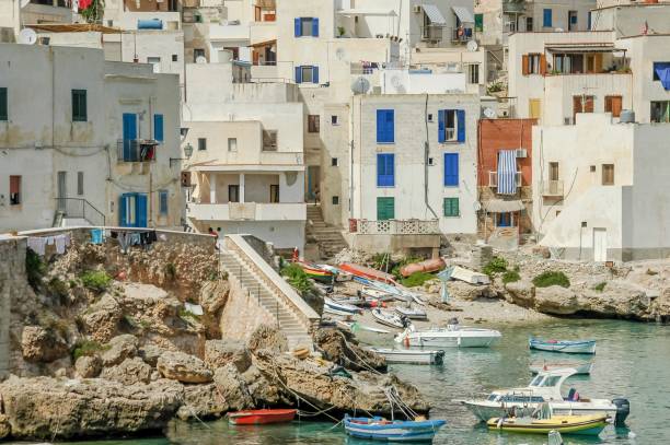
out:
<path id="1" fill-rule="evenodd" d="M 65 440 L 161 430 L 184 391 L 171 380 L 128 386 L 101 378 L 10 377 L 0 394 L 12 437 Z"/>

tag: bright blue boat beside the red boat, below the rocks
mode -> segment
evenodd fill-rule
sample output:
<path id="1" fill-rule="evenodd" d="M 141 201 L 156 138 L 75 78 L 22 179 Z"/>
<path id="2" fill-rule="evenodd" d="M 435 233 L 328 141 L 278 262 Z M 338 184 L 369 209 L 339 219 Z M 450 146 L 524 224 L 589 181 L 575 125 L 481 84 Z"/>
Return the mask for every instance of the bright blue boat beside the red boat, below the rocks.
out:
<path id="1" fill-rule="evenodd" d="M 351 418 L 344 419 L 348 435 L 384 442 L 432 442 L 444 420 L 385 420 L 384 418 Z"/>

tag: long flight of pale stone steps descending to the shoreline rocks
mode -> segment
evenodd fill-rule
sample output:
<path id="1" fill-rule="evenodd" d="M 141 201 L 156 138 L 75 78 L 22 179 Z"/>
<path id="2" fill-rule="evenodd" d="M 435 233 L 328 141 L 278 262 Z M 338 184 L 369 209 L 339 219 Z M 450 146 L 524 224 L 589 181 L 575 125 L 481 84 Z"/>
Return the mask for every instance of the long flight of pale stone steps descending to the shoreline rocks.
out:
<path id="1" fill-rule="evenodd" d="M 304 324 L 300 321 L 284 298 L 263 282 L 245 260 L 234 251 L 221 250 L 220 261 L 221 268 L 228 272 L 229 278 L 235 279 L 244 292 L 256 298 L 261 306 L 275 317 L 277 327 L 288 339 L 290 350 L 299 346 L 312 348 L 312 337 Z"/>

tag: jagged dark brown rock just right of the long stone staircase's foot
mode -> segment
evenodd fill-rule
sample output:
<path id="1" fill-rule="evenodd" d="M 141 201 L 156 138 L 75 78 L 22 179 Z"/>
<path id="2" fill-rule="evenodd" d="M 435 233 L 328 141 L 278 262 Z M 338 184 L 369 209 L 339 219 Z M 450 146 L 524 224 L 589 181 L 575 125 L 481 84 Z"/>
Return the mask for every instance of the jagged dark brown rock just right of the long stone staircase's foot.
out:
<path id="1" fill-rule="evenodd" d="M 322 328 L 314 332 L 314 343 L 323 350 L 324 359 L 349 370 L 386 370 L 384 356 L 360 348 L 351 333 L 335 328 Z M 365 365 L 361 362 L 365 362 Z"/>

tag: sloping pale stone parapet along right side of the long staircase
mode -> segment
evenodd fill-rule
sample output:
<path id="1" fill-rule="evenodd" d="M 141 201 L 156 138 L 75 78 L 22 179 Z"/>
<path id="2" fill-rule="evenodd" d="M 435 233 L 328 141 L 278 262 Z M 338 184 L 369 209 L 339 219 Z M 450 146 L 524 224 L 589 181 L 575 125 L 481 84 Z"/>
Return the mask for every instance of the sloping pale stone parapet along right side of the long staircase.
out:
<path id="1" fill-rule="evenodd" d="M 311 331 L 321 319 L 319 314 L 246 243 L 243 236 L 226 235 L 226 247 L 236 253 L 243 260 L 246 260 L 258 279 L 270 290 L 274 290 L 304 325 L 308 332 Z"/>

